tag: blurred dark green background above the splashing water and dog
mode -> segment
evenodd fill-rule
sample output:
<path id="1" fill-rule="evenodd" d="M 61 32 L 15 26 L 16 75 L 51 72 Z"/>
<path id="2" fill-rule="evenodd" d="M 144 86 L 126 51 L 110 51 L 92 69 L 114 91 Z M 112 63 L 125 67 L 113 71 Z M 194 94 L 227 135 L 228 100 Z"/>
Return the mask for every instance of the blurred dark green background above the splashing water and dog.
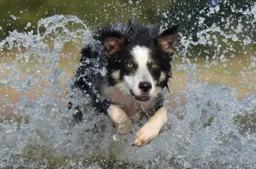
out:
<path id="1" fill-rule="evenodd" d="M 138 22 L 153 25 L 170 23 L 179 24 L 182 33 L 189 32 L 191 37 L 198 32 L 198 18 L 204 18 L 204 26 L 213 23 L 224 26 L 223 19 L 232 15 L 229 23 L 228 33 L 234 33 L 232 25 L 236 26 L 241 20 L 241 13 L 231 13 L 234 9 L 246 10 L 253 7 L 254 1 L 219 1 L 219 0 L 197 0 L 197 1 L 62 1 L 62 0 L 22 0 L 9 1 L 0 0 L 0 39 L 8 36 L 9 31 L 36 32 L 38 20 L 55 14 L 76 15 L 83 20 L 89 28 L 102 26 L 113 22 L 127 22 L 129 18 Z M 215 11 L 214 7 L 218 6 Z M 212 8 L 210 8 L 212 7 Z M 29 23 L 29 24 L 28 24 Z M 222 28 L 222 27 L 221 27 Z M 247 31 L 247 30 L 244 30 Z M 254 29 L 248 30 L 254 31 Z M 255 38 L 255 37 L 254 37 Z"/>

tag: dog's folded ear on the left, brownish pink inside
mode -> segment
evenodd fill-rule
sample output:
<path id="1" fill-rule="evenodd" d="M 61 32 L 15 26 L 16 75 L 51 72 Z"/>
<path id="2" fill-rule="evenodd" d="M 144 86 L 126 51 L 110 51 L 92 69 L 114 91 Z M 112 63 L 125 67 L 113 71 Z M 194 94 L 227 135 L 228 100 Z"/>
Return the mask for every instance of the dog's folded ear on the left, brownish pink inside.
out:
<path id="1" fill-rule="evenodd" d="M 105 55 L 110 56 L 117 53 L 120 48 L 126 44 L 126 37 L 122 36 L 116 32 L 110 32 L 107 34 L 101 35 L 101 41 L 103 45 L 106 47 Z"/>

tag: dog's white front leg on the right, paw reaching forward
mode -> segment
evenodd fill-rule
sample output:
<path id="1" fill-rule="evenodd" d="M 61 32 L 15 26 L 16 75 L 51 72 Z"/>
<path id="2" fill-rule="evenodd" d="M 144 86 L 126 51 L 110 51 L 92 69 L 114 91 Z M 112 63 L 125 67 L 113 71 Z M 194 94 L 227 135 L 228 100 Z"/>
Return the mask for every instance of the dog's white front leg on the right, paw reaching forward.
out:
<path id="1" fill-rule="evenodd" d="M 158 136 L 162 126 L 167 122 L 166 108 L 162 107 L 155 112 L 145 125 L 134 136 L 133 146 L 145 146 Z"/>

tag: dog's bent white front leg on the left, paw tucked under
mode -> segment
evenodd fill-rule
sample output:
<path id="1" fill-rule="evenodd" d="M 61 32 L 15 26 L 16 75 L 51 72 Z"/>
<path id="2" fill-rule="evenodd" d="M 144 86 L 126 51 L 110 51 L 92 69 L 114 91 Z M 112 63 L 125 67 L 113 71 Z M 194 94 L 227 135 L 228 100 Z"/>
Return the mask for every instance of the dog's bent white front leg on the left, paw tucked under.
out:
<path id="1" fill-rule="evenodd" d="M 132 130 L 132 123 L 129 120 L 126 112 L 124 112 L 119 106 L 110 104 L 110 107 L 107 109 L 108 116 L 116 124 L 116 129 L 121 135 L 125 135 Z"/>

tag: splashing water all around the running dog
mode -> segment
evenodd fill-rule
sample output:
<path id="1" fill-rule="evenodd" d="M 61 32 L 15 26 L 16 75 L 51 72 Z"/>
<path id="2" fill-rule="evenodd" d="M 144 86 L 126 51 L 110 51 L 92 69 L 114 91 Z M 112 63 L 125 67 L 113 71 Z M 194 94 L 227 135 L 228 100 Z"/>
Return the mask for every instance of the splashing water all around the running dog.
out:
<path id="1" fill-rule="evenodd" d="M 54 15 L 39 20 L 36 33 L 11 32 L 0 42 L 0 87 L 6 91 L 0 92 L 0 167 L 255 168 L 256 3 L 230 6 L 242 19 L 234 22 L 230 15 L 209 26 L 206 16 L 221 10 L 210 6 L 199 10 L 205 17 L 195 18 L 196 38 L 181 31 L 173 65 L 185 80 L 176 75 L 170 85 L 170 129 L 145 147 L 132 147 L 132 134 L 116 135 L 110 119 L 95 116 L 89 104 L 82 124 L 68 124 L 65 92 L 79 50 L 92 42 L 86 23 Z M 162 15 L 164 26 L 171 14 Z M 233 60 L 241 54 L 246 58 Z M 205 70 L 215 84 L 206 81 Z M 219 80 L 225 77 L 227 85 Z M 243 99 L 240 90 L 246 91 Z M 76 101 L 89 103 L 77 95 Z"/>

